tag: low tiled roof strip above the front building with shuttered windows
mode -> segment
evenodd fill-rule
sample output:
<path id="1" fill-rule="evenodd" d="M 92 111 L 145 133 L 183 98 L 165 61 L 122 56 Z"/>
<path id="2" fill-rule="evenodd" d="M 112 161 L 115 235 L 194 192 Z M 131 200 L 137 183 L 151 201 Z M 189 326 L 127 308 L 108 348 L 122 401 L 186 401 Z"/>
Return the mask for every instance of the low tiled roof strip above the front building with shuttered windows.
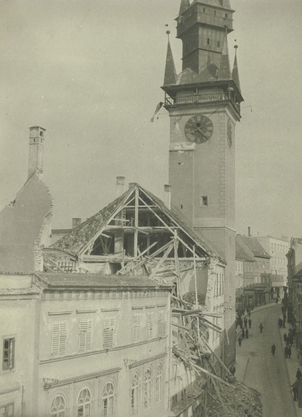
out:
<path id="1" fill-rule="evenodd" d="M 131 277 L 98 274 L 69 274 L 59 272 L 36 272 L 45 288 L 55 287 L 98 287 L 98 288 L 171 288 L 171 284 L 156 282 L 148 277 Z"/>

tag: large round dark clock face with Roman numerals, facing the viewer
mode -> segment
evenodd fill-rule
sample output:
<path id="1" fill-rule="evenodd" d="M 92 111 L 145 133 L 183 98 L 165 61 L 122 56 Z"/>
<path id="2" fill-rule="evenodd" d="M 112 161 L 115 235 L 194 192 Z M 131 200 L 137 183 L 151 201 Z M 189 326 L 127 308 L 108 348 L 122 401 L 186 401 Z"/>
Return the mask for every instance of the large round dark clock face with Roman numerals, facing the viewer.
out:
<path id="1" fill-rule="evenodd" d="M 213 123 L 203 114 L 197 114 L 186 122 L 184 134 L 190 142 L 204 143 L 213 134 Z"/>

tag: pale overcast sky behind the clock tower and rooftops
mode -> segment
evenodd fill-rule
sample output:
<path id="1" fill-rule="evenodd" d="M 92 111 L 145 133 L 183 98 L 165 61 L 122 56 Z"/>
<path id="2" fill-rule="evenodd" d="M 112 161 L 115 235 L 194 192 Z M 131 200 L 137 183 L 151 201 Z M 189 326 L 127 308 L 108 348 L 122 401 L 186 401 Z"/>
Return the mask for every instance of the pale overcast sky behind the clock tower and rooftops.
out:
<path id="1" fill-rule="evenodd" d="M 53 228 L 115 198 L 125 176 L 163 197 L 167 35 L 176 72 L 180 0 L 0 0 L 0 208 L 27 179 L 28 127 L 45 132 Z M 302 236 L 302 2 L 231 0 L 242 95 L 236 128 L 237 232 Z"/>

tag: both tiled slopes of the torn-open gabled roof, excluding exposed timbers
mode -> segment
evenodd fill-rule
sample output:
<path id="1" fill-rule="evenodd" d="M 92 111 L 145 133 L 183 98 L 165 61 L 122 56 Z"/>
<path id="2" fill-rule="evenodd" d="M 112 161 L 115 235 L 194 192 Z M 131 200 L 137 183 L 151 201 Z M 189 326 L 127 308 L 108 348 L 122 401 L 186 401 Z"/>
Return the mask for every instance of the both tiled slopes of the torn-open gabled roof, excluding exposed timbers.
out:
<path id="1" fill-rule="evenodd" d="M 164 201 L 156 197 L 150 191 L 145 190 L 137 183 L 131 183 L 131 187 L 125 191 L 120 197 L 113 200 L 108 206 L 102 208 L 98 213 L 91 216 L 89 219 L 81 223 L 79 226 L 72 229 L 68 234 L 63 236 L 61 239 L 56 241 L 50 248 L 60 249 L 63 251 L 72 252 L 78 254 L 81 249 L 89 243 L 91 239 L 107 225 L 111 217 L 118 210 L 119 206 L 122 206 L 124 202 L 131 196 L 134 191 L 134 188 L 138 186 L 143 193 L 146 194 L 148 198 L 154 201 L 154 203 L 161 209 L 161 211 L 167 216 L 171 217 L 176 224 L 184 229 L 186 234 L 188 234 L 191 239 L 196 242 L 196 245 L 203 249 L 208 256 L 218 256 L 216 252 L 211 248 L 211 246 L 201 239 L 187 224 L 184 217 L 177 212 L 173 207 L 171 210 L 166 207 Z M 224 259 L 219 257 L 219 260 L 225 262 Z"/>

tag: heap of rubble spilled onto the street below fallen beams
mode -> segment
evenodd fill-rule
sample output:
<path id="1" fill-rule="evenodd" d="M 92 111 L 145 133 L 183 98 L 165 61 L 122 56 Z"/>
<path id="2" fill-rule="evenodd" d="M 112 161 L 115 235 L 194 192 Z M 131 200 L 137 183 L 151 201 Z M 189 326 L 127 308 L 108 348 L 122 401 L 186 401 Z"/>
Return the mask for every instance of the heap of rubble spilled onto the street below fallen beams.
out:
<path id="1" fill-rule="evenodd" d="M 213 392 L 212 401 L 209 405 L 207 416 L 261 417 L 261 394 L 256 390 L 242 384 L 242 382 L 238 382 L 236 380 L 233 382 L 232 386 L 233 387 L 231 388 L 228 385 L 221 384 L 219 387 L 219 392 L 223 399 L 224 407 L 222 407 L 221 399 L 219 399 L 216 392 Z"/>

